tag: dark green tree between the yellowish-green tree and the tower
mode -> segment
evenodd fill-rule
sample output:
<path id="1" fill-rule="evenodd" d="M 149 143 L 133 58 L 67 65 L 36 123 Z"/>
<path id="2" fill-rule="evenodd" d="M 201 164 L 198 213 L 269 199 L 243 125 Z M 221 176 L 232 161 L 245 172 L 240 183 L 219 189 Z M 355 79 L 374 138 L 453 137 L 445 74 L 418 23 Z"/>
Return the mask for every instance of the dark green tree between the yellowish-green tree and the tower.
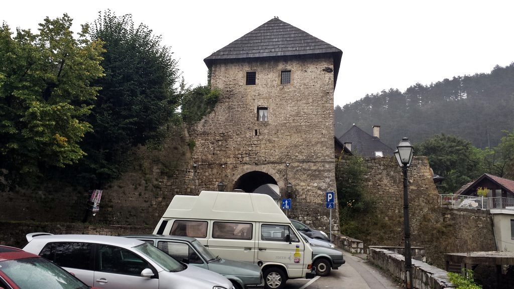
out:
<path id="1" fill-rule="evenodd" d="M 101 185 L 120 174 L 128 149 L 164 138 L 179 103 L 179 71 L 161 38 L 131 15 L 99 13 L 89 35 L 105 43 L 105 77 L 95 82 L 102 90 L 87 118 L 94 132 L 84 141 L 80 176 Z"/>

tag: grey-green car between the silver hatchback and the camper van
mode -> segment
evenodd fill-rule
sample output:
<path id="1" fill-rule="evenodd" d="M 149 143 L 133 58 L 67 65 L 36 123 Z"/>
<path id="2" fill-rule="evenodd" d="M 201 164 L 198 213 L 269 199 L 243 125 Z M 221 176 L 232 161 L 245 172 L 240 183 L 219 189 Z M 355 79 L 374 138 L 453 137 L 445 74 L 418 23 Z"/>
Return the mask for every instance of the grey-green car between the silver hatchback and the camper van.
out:
<path id="1" fill-rule="evenodd" d="M 170 235 L 132 235 L 124 237 L 148 242 L 178 261 L 221 274 L 227 277 L 236 289 L 264 288 L 261 267 L 216 257 L 195 238 Z"/>

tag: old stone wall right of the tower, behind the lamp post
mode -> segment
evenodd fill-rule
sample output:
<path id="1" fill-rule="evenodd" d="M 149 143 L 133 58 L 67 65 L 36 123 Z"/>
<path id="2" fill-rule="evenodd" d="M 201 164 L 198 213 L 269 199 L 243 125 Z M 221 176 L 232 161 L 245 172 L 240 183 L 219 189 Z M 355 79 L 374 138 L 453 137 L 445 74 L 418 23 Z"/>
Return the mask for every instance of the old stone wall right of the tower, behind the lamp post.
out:
<path id="1" fill-rule="evenodd" d="M 363 164 L 366 197 L 374 207 L 359 222 L 372 233 L 351 237 L 362 240 L 364 247 L 401 247 L 405 238 L 401 168 L 393 157 L 368 158 Z M 439 207 L 427 157 L 414 157 L 408 184 L 411 246 L 424 247 L 428 263 L 445 268 L 445 253 L 495 250 L 489 211 Z"/>

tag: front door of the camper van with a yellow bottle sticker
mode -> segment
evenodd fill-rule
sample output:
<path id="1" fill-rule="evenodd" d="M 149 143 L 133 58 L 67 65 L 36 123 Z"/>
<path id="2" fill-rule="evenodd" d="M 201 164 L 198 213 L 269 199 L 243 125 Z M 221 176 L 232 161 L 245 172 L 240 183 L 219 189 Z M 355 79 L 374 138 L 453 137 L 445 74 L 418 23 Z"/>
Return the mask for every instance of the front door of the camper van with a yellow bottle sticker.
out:
<path id="1" fill-rule="evenodd" d="M 282 263 L 289 277 L 303 277 L 304 243 L 289 225 L 260 223 L 260 238 L 255 262 Z M 287 242 L 287 235 L 290 241 Z"/>

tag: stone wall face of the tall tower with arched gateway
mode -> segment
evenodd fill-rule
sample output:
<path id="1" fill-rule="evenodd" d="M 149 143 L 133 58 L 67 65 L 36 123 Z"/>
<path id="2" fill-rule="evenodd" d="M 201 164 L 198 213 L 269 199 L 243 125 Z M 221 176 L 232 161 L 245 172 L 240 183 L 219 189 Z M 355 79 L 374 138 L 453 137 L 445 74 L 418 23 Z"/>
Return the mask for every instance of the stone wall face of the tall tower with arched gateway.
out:
<path id="1" fill-rule="evenodd" d="M 336 190 L 333 69 L 331 56 L 215 63 L 211 85 L 222 95 L 190 130 L 197 192 L 220 181 L 233 190 L 244 174 L 263 172 L 280 197 L 292 198 L 289 216 L 328 230 L 324 197 Z M 280 83 L 282 70 L 291 71 L 290 84 Z M 255 71 L 255 85 L 246 85 L 247 71 Z M 258 121 L 258 107 L 267 107 L 267 121 Z M 337 231 L 337 209 L 333 224 Z"/>

